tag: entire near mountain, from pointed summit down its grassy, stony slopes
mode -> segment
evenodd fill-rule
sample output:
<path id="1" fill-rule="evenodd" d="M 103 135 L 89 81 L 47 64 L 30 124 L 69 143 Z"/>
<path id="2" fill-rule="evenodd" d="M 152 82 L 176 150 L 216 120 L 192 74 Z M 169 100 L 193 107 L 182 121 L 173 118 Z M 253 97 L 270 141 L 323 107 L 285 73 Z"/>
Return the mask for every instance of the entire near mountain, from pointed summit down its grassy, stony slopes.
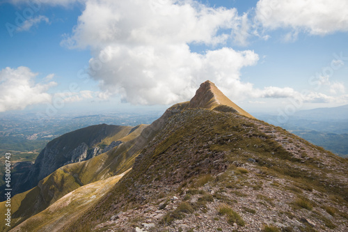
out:
<path id="1" fill-rule="evenodd" d="M 212 82 L 122 136 L 13 196 L 10 231 L 348 231 L 348 160 Z"/>

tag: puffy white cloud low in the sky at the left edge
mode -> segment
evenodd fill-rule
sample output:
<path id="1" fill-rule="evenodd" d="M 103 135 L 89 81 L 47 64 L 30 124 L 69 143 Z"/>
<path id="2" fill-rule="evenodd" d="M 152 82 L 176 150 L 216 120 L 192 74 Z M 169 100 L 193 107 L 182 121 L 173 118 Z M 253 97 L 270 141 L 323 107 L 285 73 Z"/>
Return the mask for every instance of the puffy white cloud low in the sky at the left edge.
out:
<path id="1" fill-rule="evenodd" d="M 52 97 L 46 91 L 55 86 L 35 83 L 36 73 L 29 68 L 4 68 L 0 71 L 0 111 L 24 109 L 28 105 L 50 102 Z"/>

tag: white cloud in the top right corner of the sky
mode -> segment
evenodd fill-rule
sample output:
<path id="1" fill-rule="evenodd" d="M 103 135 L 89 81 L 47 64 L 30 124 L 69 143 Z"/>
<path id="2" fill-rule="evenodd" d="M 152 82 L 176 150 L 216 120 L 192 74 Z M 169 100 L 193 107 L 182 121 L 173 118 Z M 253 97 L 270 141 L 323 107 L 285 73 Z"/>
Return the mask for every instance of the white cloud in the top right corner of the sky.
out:
<path id="1" fill-rule="evenodd" d="M 348 1 L 260 0 L 256 19 L 269 29 L 292 28 L 313 35 L 348 31 Z"/>

